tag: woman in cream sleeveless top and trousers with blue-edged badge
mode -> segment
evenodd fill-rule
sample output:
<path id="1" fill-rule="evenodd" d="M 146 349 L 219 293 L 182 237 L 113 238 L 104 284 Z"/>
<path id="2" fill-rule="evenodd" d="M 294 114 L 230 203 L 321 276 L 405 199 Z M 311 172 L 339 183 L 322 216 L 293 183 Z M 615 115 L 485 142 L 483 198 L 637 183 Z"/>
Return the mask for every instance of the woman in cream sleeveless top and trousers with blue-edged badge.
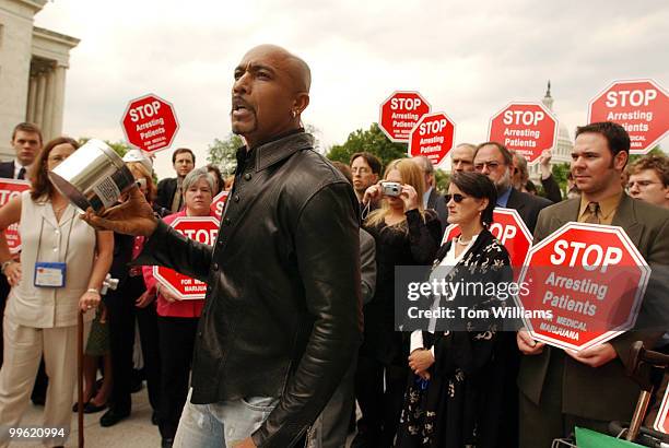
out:
<path id="1" fill-rule="evenodd" d="M 79 219 L 51 185 L 48 172 L 78 143 L 57 138 L 46 144 L 31 173 L 32 188 L 0 209 L 0 231 L 19 223 L 20 261 L 13 261 L 0 232 L 2 273 L 12 290 L 4 313 L 4 358 L 0 370 L 0 447 L 19 425 L 44 355 L 49 386 L 44 428 L 62 428 L 44 439 L 62 446 L 70 432 L 77 381 L 77 318 L 90 323 L 111 266 L 114 238 Z M 87 325 L 84 326 L 87 329 Z"/>

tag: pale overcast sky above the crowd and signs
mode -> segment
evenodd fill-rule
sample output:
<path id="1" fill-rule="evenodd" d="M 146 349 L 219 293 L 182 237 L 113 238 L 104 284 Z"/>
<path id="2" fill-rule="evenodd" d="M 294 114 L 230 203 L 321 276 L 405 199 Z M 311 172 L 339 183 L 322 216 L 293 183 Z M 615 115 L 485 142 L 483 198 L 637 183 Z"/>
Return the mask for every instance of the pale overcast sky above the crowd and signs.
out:
<path id="1" fill-rule="evenodd" d="M 572 137 L 610 81 L 653 78 L 667 89 L 668 23 L 666 0 L 55 0 L 35 17 L 81 39 L 67 75 L 66 133 L 120 140 L 128 101 L 153 92 L 176 108 L 173 148 L 196 149 L 198 165 L 231 130 L 233 69 L 258 44 L 310 64 L 303 119 L 322 146 L 377 121 L 395 90 L 420 91 L 456 122 L 456 142 L 476 143 L 492 114 L 540 99 L 548 79 Z M 160 177 L 174 175 L 169 157 L 159 153 Z"/>

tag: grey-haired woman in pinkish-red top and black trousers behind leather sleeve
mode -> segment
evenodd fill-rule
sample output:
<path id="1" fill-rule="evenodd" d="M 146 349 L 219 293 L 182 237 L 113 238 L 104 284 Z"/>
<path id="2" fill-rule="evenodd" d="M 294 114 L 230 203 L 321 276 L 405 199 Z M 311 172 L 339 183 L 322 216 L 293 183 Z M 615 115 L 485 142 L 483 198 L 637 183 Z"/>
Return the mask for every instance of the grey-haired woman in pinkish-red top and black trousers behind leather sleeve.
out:
<path id="1" fill-rule="evenodd" d="M 211 211 L 213 178 L 206 168 L 190 172 L 181 188 L 185 208 L 165 216 L 165 223 L 179 216 L 214 216 Z M 159 428 L 166 447 L 172 446 L 186 403 L 196 331 L 204 300 L 181 299 L 153 276 L 153 267 L 142 267 L 142 271 L 148 293 L 157 295 L 162 389 Z"/>

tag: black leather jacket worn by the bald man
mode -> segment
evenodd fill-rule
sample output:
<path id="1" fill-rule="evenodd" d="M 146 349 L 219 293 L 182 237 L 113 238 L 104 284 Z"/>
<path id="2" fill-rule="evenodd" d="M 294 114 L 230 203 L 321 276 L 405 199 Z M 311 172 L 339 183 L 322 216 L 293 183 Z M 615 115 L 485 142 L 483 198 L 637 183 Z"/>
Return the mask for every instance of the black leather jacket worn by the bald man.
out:
<path id="1" fill-rule="evenodd" d="M 191 401 L 280 397 L 259 447 L 296 443 L 361 341 L 357 200 L 313 141 L 240 149 L 213 250 L 161 221 L 137 261 L 208 283 Z"/>

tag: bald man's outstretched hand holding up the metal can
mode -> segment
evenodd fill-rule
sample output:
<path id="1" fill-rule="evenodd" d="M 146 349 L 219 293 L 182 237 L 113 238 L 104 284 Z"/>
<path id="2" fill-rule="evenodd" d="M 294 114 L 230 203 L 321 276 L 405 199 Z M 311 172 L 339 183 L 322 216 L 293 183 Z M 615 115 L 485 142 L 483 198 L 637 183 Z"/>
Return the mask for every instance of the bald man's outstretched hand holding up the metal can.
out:
<path id="1" fill-rule="evenodd" d="M 125 235 L 151 236 L 157 226 L 151 204 L 144 194 L 133 186 L 126 202 L 105 210 L 101 215 L 93 209 L 86 210 L 81 219 L 97 231 L 114 231 Z"/>

